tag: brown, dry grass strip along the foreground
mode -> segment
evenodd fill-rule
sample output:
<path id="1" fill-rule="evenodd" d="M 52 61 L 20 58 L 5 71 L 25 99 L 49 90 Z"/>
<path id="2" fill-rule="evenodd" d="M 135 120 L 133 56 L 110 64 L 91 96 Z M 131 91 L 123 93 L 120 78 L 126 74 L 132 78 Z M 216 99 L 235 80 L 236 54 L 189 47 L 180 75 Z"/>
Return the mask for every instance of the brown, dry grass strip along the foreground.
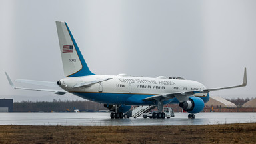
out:
<path id="1" fill-rule="evenodd" d="M 256 123 L 193 126 L 0 125 L 0 143 L 256 143 Z"/>

